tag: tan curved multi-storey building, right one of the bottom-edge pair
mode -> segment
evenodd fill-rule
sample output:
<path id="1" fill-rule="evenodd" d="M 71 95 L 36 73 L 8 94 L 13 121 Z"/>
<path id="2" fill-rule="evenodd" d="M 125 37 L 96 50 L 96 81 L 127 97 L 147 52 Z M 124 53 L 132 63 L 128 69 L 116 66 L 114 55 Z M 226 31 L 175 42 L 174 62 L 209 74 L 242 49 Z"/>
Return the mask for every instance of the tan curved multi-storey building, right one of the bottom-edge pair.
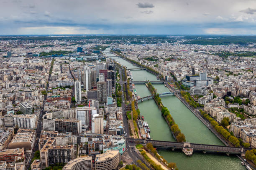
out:
<path id="1" fill-rule="evenodd" d="M 95 170 L 113 170 L 118 167 L 120 161 L 119 150 L 107 150 L 105 153 L 96 155 Z"/>

